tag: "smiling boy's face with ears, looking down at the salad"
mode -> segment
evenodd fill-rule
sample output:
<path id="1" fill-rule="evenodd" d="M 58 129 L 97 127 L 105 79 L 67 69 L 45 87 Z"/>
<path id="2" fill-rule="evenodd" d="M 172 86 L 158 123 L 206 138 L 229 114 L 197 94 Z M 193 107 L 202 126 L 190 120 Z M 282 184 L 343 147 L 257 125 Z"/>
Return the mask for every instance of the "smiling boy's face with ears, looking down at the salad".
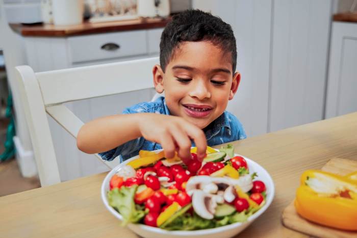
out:
<path id="1" fill-rule="evenodd" d="M 152 73 L 156 90 L 165 91 L 170 113 L 201 129 L 224 112 L 240 82 L 240 74 L 232 72 L 231 53 L 209 41 L 182 42 L 166 72 L 155 65 Z"/>

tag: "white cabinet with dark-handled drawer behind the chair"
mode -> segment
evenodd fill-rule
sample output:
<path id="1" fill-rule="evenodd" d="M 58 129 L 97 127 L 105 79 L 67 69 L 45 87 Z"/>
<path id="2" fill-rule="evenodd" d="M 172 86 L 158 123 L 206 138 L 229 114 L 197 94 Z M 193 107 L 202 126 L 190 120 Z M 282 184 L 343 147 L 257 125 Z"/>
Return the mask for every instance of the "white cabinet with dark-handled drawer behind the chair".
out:
<path id="1" fill-rule="evenodd" d="M 162 31 L 159 28 L 70 37 L 25 37 L 24 41 L 29 65 L 35 72 L 42 72 L 158 56 Z M 125 79 L 119 74 L 118 80 Z M 141 90 L 67 103 L 67 106 L 82 121 L 88 122 L 100 116 L 121 113 L 125 107 L 135 103 L 150 101 L 154 94 L 154 89 Z M 48 118 L 61 180 L 108 170 L 93 155 L 79 151 L 75 139 Z"/>

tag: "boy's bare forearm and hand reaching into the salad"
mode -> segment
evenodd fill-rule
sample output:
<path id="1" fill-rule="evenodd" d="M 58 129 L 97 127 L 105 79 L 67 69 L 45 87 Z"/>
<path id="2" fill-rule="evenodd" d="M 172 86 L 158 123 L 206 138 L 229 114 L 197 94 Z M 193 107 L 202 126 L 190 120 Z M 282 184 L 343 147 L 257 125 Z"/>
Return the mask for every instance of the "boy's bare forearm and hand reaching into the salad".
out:
<path id="1" fill-rule="evenodd" d="M 135 113 L 98 118 L 85 124 L 77 136 L 77 146 L 86 153 L 98 153 L 116 148 L 143 136 L 161 144 L 165 157 L 175 151 L 184 161 L 191 158 L 191 139 L 197 146 L 197 157 L 205 156 L 207 141 L 201 129 L 181 117 L 155 113 Z"/>

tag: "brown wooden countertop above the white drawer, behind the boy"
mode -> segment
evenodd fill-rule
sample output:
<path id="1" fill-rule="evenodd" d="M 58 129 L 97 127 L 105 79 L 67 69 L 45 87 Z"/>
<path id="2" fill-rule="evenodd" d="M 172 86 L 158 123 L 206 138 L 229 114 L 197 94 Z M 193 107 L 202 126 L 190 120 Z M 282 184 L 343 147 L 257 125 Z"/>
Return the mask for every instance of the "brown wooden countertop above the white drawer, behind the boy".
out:
<path id="1" fill-rule="evenodd" d="M 163 28 L 170 20 L 171 17 L 139 18 L 134 20 L 107 21 L 97 23 L 90 23 L 85 21 L 82 24 L 72 26 L 55 26 L 49 24 L 10 24 L 10 27 L 22 36 L 66 37 L 74 35 Z"/>

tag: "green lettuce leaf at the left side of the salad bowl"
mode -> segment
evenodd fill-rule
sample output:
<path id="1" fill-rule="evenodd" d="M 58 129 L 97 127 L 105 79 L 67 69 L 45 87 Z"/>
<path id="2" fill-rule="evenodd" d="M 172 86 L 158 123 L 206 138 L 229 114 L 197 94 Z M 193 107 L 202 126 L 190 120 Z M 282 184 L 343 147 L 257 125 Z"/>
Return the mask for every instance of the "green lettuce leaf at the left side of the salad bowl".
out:
<path id="1" fill-rule="evenodd" d="M 119 211 L 120 215 L 123 217 L 122 226 L 125 226 L 129 222 L 138 222 L 146 214 L 144 210 L 138 210 L 134 203 L 134 195 L 137 185 L 130 187 L 122 186 L 119 188 L 114 188 L 112 191 L 108 192 L 109 205 L 114 207 Z"/>

